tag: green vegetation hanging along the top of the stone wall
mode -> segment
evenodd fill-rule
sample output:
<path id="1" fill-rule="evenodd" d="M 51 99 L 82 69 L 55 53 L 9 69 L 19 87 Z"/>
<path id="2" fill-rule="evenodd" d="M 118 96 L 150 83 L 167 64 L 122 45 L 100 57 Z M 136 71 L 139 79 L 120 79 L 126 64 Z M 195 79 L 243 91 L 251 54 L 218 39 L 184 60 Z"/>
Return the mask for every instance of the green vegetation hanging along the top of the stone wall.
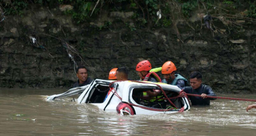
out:
<path id="1" fill-rule="evenodd" d="M 196 10 L 205 14 L 244 12 L 245 17 L 256 18 L 256 2 L 251 0 L 5 0 L 0 6 L 5 15 L 22 16 L 29 10 L 31 4 L 44 5 L 49 9 L 70 5 L 73 8 L 64 11 L 63 14 L 71 15 L 76 23 L 84 23 L 98 17 L 103 10 L 133 11 L 132 19 L 139 23 L 138 27 L 148 26 L 147 24 L 154 27 L 169 27 L 175 25 L 179 19 L 191 17 Z M 161 19 L 156 15 L 159 10 L 162 11 Z M 109 24 L 100 27 L 100 30 L 104 27 L 109 27 Z"/>

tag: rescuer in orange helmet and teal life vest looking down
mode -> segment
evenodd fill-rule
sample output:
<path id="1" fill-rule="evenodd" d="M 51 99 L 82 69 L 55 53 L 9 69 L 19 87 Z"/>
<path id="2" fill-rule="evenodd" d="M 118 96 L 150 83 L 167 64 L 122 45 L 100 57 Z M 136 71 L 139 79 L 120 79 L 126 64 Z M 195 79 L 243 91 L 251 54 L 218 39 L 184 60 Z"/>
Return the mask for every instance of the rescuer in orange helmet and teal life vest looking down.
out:
<path id="1" fill-rule="evenodd" d="M 173 62 L 167 61 L 162 66 L 162 74 L 164 79 L 162 83 L 167 83 L 170 85 L 176 85 L 180 89 L 183 89 L 185 86 L 188 85 L 188 80 L 181 76 L 180 74 L 175 74 L 176 67 Z"/>

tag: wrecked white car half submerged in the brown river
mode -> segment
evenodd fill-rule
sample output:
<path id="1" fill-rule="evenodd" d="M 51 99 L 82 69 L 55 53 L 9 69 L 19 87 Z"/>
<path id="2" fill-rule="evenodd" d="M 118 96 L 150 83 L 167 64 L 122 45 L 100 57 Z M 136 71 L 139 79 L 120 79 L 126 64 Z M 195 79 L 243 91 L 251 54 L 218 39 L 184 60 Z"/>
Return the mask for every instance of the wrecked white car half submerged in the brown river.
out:
<path id="1" fill-rule="evenodd" d="M 149 97 L 146 94 L 155 93 Z M 94 79 L 91 84 L 65 93 L 51 95 L 47 101 L 80 94 L 77 103 L 93 104 L 106 112 L 122 115 L 176 113 L 190 109 L 187 97 L 178 97 L 181 89 L 165 83 Z"/>

